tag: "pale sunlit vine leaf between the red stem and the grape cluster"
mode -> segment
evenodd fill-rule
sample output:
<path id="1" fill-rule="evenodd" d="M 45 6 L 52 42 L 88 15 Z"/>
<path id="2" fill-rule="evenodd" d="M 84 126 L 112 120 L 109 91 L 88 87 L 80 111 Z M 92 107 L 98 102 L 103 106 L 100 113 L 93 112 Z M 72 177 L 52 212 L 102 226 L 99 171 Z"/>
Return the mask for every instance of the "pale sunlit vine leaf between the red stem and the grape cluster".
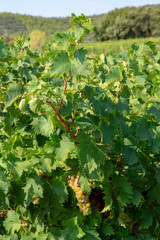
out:
<path id="1" fill-rule="evenodd" d="M 59 146 L 55 150 L 56 159 L 59 161 L 65 161 L 68 154 L 73 152 L 74 149 L 75 144 L 70 140 L 70 138 L 63 135 Z"/>

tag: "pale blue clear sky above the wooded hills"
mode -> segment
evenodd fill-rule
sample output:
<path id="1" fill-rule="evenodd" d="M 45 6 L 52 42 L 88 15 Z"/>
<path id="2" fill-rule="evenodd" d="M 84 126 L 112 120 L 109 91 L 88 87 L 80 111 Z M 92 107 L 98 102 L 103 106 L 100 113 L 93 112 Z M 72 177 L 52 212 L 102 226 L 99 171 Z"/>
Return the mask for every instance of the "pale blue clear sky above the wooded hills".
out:
<path id="1" fill-rule="evenodd" d="M 66 17 L 72 12 L 86 16 L 108 13 L 115 8 L 160 4 L 160 0 L 1 0 L 0 12 L 42 17 Z"/>

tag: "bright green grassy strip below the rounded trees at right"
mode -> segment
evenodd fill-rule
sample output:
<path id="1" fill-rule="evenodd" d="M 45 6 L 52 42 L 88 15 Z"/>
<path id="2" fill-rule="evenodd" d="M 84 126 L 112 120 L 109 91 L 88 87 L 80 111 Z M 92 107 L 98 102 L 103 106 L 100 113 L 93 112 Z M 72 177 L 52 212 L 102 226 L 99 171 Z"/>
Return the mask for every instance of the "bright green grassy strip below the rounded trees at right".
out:
<path id="1" fill-rule="evenodd" d="M 160 52 L 160 37 L 149 37 L 149 38 L 135 38 L 135 39 L 121 39 L 121 40 L 109 40 L 105 42 L 94 42 L 94 43 L 84 43 L 83 47 L 90 53 L 95 55 L 118 55 L 121 51 L 125 51 L 133 43 L 143 43 L 147 41 L 152 41 L 155 43 L 156 48 Z"/>

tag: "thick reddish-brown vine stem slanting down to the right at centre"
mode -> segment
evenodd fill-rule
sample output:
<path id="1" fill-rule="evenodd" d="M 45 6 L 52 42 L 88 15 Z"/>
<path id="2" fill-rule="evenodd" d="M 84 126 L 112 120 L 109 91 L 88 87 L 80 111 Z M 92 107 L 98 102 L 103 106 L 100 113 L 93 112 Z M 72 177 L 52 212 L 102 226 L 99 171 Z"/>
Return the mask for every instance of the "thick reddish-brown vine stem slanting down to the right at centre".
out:
<path id="1" fill-rule="evenodd" d="M 63 125 L 63 127 L 66 129 L 66 131 L 71 135 L 72 138 L 76 139 L 76 135 L 74 135 L 74 133 L 70 130 L 70 125 L 69 123 L 67 123 L 62 117 L 61 115 L 59 114 L 59 112 L 55 109 L 53 103 L 49 100 L 49 99 L 46 99 L 46 103 L 48 103 L 51 108 L 53 109 L 53 111 L 55 112 L 56 116 L 57 116 L 57 119 L 60 121 L 60 123 Z"/>

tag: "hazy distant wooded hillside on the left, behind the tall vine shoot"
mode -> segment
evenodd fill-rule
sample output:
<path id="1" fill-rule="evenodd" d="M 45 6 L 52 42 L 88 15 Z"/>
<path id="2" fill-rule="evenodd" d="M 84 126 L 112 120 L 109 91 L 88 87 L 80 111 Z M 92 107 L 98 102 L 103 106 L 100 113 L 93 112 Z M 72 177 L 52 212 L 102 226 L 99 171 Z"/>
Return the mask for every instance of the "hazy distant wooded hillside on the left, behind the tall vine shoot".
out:
<path id="1" fill-rule="evenodd" d="M 92 22 L 96 27 L 100 26 L 103 15 L 92 16 Z M 0 13 L 0 36 L 4 35 L 29 35 L 34 30 L 44 31 L 46 36 L 56 32 L 67 30 L 70 24 L 70 17 L 45 18 L 33 17 L 30 15 Z"/>

